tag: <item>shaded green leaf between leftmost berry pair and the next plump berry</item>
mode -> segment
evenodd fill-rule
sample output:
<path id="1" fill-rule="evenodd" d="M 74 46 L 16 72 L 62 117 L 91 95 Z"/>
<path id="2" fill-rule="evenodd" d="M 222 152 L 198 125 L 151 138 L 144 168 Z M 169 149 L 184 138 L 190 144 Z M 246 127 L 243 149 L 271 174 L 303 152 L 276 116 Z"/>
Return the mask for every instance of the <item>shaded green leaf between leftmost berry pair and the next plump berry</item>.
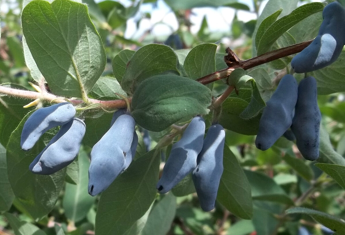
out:
<path id="1" fill-rule="evenodd" d="M 92 148 L 109 130 L 112 115 L 113 113 L 106 112 L 94 118 L 86 117 L 84 122 L 87 128 L 83 138 L 83 144 Z"/>

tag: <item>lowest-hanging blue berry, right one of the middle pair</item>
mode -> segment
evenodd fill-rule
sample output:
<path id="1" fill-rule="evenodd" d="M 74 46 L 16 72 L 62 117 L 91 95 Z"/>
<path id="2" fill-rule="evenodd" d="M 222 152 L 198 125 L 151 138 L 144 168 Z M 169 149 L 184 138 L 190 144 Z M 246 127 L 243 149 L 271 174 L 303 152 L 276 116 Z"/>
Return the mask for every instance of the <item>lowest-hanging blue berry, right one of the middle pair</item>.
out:
<path id="1" fill-rule="evenodd" d="M 210 211 L 215 206 L 220 177 L 223 174 L 224 143 L 223 127 L 219 124 L 211 126 L 192 173 L 200 206 L 204 211 Z"/>

